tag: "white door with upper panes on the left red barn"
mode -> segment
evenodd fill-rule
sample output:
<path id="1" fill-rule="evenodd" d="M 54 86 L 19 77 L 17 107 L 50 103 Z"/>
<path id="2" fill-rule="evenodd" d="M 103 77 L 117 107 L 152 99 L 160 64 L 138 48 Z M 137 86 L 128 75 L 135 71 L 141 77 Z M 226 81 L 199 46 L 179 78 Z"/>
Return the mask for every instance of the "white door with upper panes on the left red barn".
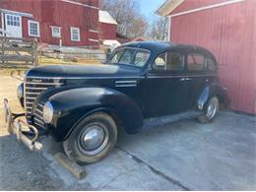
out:
<path id="1" fill-rule="evenodd" d="M 5 14 L 5 31 L 7 36 L 23 37 L 22 17 Z"/>

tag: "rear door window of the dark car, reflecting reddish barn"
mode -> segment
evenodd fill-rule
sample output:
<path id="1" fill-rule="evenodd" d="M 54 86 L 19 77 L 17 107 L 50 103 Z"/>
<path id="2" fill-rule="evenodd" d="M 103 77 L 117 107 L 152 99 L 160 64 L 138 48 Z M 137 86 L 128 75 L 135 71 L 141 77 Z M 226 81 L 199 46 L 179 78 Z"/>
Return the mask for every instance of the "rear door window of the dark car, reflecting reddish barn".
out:
<path id="1" fill-rule="evenodd" d="M 204 71 L 206 69 L 205 56 L 197 53 L 188 54 L 187 68 L 189 71 Z"/>

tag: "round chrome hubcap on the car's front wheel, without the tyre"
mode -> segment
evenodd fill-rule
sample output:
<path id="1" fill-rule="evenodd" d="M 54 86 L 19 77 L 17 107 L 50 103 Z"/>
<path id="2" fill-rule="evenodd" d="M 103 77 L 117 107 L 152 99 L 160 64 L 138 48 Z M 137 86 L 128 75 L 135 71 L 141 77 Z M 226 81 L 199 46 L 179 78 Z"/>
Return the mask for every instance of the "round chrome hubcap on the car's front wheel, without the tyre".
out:
<path id="1" fill-rule="evenodd" d="M 104 149 L 108 138 L 108 130 L 103 124 L 90 124 L 79 135 L 78 146 L 82 153 L 94 156 Z"/>

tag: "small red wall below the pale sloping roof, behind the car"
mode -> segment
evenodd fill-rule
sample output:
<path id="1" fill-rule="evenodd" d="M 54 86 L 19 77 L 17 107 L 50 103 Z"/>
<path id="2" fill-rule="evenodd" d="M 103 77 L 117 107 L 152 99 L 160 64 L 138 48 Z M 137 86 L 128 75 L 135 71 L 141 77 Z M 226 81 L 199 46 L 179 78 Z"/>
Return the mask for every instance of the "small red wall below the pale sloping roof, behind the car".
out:
<path id="1" fill-rule="evenodd" d="M 99 23 L 100 39 L 116 39 L 117 26 L 114 24 Z"/>

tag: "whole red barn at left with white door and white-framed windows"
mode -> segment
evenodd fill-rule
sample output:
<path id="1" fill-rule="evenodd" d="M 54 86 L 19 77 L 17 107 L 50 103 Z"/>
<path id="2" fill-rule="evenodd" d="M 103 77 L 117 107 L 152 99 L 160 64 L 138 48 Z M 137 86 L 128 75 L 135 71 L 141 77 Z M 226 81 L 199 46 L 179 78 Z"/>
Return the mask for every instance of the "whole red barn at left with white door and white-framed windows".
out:
<path id="1" fill-rule="evenodd" d="M 49 44 L 98 45 L 98 0 L 1 0 L 0 30 Z"/>

